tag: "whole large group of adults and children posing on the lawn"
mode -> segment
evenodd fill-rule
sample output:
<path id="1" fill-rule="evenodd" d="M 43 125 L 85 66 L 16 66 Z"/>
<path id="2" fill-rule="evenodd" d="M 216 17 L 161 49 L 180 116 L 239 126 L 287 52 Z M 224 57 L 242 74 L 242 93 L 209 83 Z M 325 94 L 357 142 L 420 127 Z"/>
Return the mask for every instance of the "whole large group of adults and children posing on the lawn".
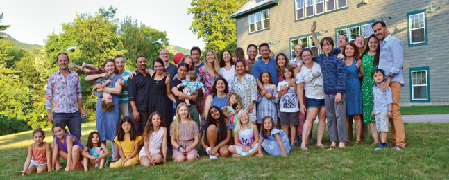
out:
<path id="1" fill-rule="evenodd" d="M 371 27 L 374 34 L 367 42 L 364 37 L 348 42 L 345 35 L 338 35 L 334 47 L 331 37 L 317 39 L 314 22 L 314 44 L 323 53 L 314 55 L 296 44 L 294 60 L 283 53 L 275 57 L 266 43 L 248 45 L 248 58 L 243 48 L 235 49 L 235 58 L 230 51 L 217 57 L 207 50 L 204 62 L 200 48 L 194 47 L 177 66 L 169 62 L 169 51 L 164 49 L 150 69 L 144 56 L 137 57 L 135 71 L 124 69 L 123 55 L 105 60 L 99 69 L 69 65 L 69 56 L 60 53 L 60 69 L 49 76 L 46 87 L 46 109 L 55 135 L 52 147 L 43 143 L 42 129 L 36 129 L 23 173 L 58 170 L 59 157 L 67 159 L 66 171 L 103 168 L 108 163 L 110 168 L 151 166 L 166 162 L 167 150 L 173 152 L 175 162 L 195 161 L 199 143 L 210 159 L 262 157 L 265 152 L 287 156 L 295 142 L 301 142 L 302 150 L 310 148 L 317 116 L 317 147 L 325 148 L 327 119 L 331 145 L 326 150 L 337 148 L 337 142 L 339 149 L 351 143 L 353 120 L 355 145 L 367 136 L 369 125 L 373 145 L 379 144 L 375 150 L 384 149 L 390 118 L 389 144 L 393 150 L 403 150 L 399 108 L 403 44 L 389 34 L 384 22 Z M 74 68 L 87 74 L 85 81 L 96 84 L 92 90 L 98 96 L 97 131 L 86 145 L 80 142 L 81 116 L 86 113 Z M 109 161 L 107 140 L 112 141 Z"/>

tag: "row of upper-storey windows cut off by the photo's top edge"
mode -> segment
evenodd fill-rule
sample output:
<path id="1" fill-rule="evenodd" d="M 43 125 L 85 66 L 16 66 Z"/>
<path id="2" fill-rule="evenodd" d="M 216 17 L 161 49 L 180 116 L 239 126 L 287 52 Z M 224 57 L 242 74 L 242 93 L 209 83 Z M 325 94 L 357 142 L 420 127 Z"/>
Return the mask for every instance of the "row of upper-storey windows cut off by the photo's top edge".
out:
<path id="1" fill-rule="evenodd" d="M 294 1 L 295 1 L 296 20 L 348 7 L 348 0 L 294 0 Z"/>

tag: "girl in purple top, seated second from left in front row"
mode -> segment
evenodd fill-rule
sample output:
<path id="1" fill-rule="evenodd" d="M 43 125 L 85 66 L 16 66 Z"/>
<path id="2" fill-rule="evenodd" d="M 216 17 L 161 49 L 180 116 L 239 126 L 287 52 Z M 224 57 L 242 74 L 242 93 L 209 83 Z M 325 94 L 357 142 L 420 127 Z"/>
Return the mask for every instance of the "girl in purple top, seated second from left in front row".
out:
<path id="1" fill-rule="evenodd" d="M 65 125 L 62 123 L 55 123 L 53 127 L 51 127 L 51 131 L 55 134 L 55 138 L 53 138 L 51 166 L 54 167 L 55 170 L 60 170 L 59 157 L 62 157 L 63 159 L 67 159 L 65 171 L 82 168 L 83 163 L 80 161 L 80 156 L 84 150 L 84 146 L 78 141 L 78 138 L 67 133 Z"/>

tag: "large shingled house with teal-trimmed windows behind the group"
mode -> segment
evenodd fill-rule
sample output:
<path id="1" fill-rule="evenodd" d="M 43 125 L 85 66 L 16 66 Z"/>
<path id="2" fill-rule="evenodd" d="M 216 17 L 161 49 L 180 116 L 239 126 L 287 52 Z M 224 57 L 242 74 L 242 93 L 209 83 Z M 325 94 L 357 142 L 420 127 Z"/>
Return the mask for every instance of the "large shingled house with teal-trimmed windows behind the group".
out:
<path id="1" fill-rule="evenodd" d="M 444 0 L 249 0 L 231 18 L 236 19 L 237 46 L 270 45 L 274 53 L 294 57 L 294 44 L 314 46 L 316 34 L 340 33 L 353 42 L 373 33 L 371 24 L 384 21 L 404 45 L 405 87 L 401 106 L 449 105 L 449 1 Z"/>

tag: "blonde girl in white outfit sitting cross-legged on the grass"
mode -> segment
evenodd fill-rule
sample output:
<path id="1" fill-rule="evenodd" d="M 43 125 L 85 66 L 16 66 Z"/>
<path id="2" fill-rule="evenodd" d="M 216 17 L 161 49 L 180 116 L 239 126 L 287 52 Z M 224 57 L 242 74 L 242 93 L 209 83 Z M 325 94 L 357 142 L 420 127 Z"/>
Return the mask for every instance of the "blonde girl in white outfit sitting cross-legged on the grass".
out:
<path id="1" fill-rule="evenodd" d="M 234 157 L 248 156 L 257 154 L 257 147 L 259 144 L 259 131 L 257 126 L 253 125 L 249 120 L 248 111 L 242 110 L 235 120 L 234 142 L 235 145 L 230 145 L 228 150 Z"/>

